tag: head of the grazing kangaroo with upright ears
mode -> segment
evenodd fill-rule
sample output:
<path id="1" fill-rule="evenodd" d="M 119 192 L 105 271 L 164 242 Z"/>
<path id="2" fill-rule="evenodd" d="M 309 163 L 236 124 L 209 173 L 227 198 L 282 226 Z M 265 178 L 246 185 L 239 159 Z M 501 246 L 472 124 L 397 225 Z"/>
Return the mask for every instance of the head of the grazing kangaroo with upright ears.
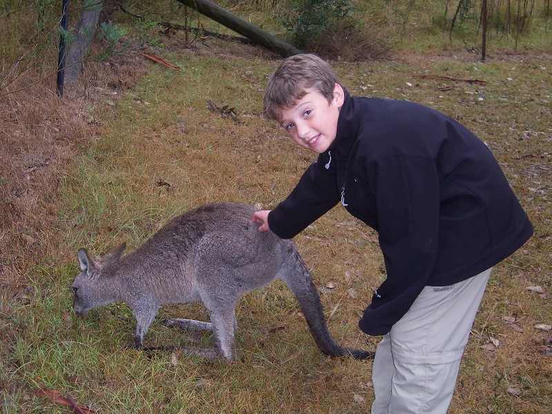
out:
<path id="1" fill-rule="evenodd" d="M 113 302 L 110 297 L 114 286 L 103 286 L 101 274 L 104 268 L 119 261 L 125 248 L 126 244 L 123 243 L 115 250 L 96 260 L 88 255 L 86 249 L 79 249 L 78 257 L 81 273 L 75 278 L 75 282 L 71 286 L 73 309 L 77 315 L 84 316 L 94 308 Z"/>

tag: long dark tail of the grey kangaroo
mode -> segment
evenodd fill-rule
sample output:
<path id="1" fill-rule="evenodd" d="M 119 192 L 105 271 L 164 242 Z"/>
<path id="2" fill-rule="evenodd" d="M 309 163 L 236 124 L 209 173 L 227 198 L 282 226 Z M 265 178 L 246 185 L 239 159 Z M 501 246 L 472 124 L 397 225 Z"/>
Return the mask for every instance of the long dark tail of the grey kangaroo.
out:
<path id="1" fill-rule="evenodd" d="M 373 352 L 362 349 L 346 348 L 335 342 L 328 331 L 328 325 L 324 319 L 324 308 L 318 295 L 318 290 L 313 283 L 311 272 L 308 271 L 305 262 L 293 244 L 288 245 L 286 260 L 290 266 L 284 266 L 282 280 L 288 285 L 297 297 L 303 315 L 305 315 L 308 328 L 320 348 L 320 351 L 332 357 L 351 355 L 355 359 L 368 359 L 374 356 Z"/>

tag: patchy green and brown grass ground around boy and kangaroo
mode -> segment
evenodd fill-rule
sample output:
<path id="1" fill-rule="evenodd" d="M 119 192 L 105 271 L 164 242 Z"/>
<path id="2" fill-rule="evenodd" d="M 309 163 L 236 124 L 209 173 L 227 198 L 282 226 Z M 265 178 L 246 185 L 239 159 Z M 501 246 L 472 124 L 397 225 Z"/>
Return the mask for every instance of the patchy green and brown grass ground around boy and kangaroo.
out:
<path id="1" fill-rule="evenodd" d="M 233 363 L 132 349 L 126 304 L 86 318 L 72 312 L 78 248 L 100 255 L 126 241 L 132 251 L 171 217 L 208 201 L 271 208 L 314 159 L 259 117 L 266 76 L 278 59 L 213 39 L 194 48 L 181 48 L 179 35 L 164 43 L 152 51 L 181 70 L 155 66 L 131 49 L 115 68 L 92 65 L 86 97 L 77 85 L 63 101 L 43 86 L 3 98 L 3 412 L 70 412 L 37 397 L 39 387 L 70 394 L 97 413 L 368 412 L 372 363 L 324 357 L 281 282 L 239 302 Z M 535 236 L 493 272 L 450 413 L 542 413 L 552 404 L 551 357 L 540 348 L 550 333 L 535 325 L 551 324 L 552 306 L 526 288 L 552 290 L 550 50 L 494 50 L 481 63 L 464 46 L 443 51 L 431 44 L 397 50 L 388 61 L 332 63 L 353 94 L 432 106 L 493 150 Z M 211 112 L 206 99 L 235 107 L 238 119 Z M 322 291 L 331 333 L 348 346 L 377 345 L 356 325 L 385 277 L 376 240 L 340 207 L 295 239 Z M 326 288 L 328 282 L 337 286 Z M 161 324 L 166 317 L 208 315 L 199 304 L 166 306 L 146 345 L 188 344 L 184 333 Z M 210 338 L 199 341 L 207 346 Z M 482 348 L 493 342 L 493 351 Z"/>

